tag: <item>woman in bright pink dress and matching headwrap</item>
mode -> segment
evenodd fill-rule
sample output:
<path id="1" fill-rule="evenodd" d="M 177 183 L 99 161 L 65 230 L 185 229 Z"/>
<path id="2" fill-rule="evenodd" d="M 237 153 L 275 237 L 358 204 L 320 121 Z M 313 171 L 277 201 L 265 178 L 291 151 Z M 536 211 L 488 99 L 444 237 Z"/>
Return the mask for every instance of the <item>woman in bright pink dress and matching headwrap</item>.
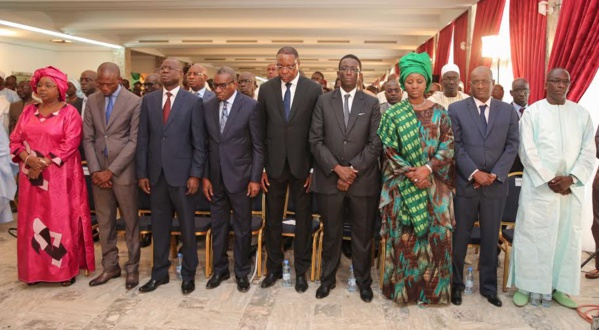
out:
<path id="1" fill-rule="evenodd" d="M 67 77 L 54 67 L 35 71 L 28 105 L 10 135 L 19 162 L 17 262 L 28 284 L 75 283 L 80 269 L 93 271 L 94 245 L 81 156 L 82 121 L 65 101 Z"/>

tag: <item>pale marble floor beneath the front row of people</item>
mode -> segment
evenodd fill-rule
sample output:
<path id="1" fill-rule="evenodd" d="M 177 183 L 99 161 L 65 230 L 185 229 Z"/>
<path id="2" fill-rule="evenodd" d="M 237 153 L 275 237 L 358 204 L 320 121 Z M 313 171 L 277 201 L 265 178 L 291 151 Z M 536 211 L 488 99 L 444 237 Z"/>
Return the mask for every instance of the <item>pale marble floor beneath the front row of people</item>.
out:
<path id="1" fill-rule="evenodd" d="M 310 283 L 304 294 L 276 284 L 261 289 L 254 280 L 247 293 L 236 289 L 233 279 L 214 290 L 205 288 L 204 259 L 196 291 L 183 296 L 180 282 L 173 280 L 156 291 L 141 294 L 125 289 L 124 276 L 99 287 L 89 287 L 91 277 L 80 274 L 67 288 L 57 284 L 28 287 L 17 280 L 16 239 L 7 233 L 15 223 L 0 225 L 0 329 L 589 329 L 575 310 L 555 302 L 550 308 L 517 308 L 513 291 L 500 292 L 504 306 L 497 308 L 479 294 L 464 296 L 462 306 L 419 308 L 399 306 L 381 296 L 373 268 L 374 300 L 366 304 L 343 284 L 350 261 L 343 257 L 338 286 L 323 300 L 314 297 L 318 287 Z M 120 238 L 119 247 L 125 248 Z M 291 257 L 289 252 L 288 256 Z M 586 255 L 586 254 L 585 254 Z M 470 254 L 470 262 L 476 256 Z M 501 257 L 502 258 L 502 257 Z M 121 262 L 126 254 L 121 252 Z M 96 244 L 96 265 L 100 267 Z M 232 266 L 231 266 L 232 267 Z M 584 270 L 589 270 L 587 265 Z M 500 267 L 498 274 L 502 274 Z M 99 272 L 96 271 L 96 274 Z M 599 280 L 581 273 L 579 304 L 599 304 Z M 150 250 L 142 249 L 140 280 L 150 277 Z M 501 283 L 501 282 L 500 282 Z"/>

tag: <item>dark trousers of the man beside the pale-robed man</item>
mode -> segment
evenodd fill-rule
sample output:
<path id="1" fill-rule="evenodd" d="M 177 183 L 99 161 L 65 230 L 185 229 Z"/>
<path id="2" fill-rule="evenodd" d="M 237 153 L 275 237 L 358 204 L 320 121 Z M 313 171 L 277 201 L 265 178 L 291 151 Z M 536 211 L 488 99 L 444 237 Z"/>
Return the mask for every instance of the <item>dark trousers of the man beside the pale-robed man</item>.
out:
<path id="1" fill-rule="evenodd" d="M 479 220 L 480 242 L 480 293 L 484 296 L 497 294 L 497 241 L 506 197 L 454 198 L 456 230 L 453 235 L 453 276 L 454 289 L 464 289 L 464 260 L 470 242 L 474 222 Z"/>

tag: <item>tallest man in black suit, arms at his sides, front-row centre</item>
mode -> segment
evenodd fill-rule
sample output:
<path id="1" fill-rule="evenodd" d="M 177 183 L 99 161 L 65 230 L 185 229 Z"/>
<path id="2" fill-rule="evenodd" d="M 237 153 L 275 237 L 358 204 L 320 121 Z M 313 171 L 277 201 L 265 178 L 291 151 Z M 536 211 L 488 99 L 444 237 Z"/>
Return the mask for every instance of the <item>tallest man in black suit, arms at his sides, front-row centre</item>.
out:
<path id="1" fill-rule="evenodd" d="M 306 271 L 310 266 L 312 196 L 310 181 L 312 155 L 308 132 L 312 112 L 322 88 L 299 74 L 300 60 L 292 47 L 277 53 L 279 75 L 260 86 L 258 106 L 266 120 L 265 172 L 262 189 L 266 193 L 266 251 L 268 275 L 261 286 L 268 288 L 282 277 L 282 221 L 285 193 L 296 207 L 294 241 L 295 290 L 308 289 Z"/>

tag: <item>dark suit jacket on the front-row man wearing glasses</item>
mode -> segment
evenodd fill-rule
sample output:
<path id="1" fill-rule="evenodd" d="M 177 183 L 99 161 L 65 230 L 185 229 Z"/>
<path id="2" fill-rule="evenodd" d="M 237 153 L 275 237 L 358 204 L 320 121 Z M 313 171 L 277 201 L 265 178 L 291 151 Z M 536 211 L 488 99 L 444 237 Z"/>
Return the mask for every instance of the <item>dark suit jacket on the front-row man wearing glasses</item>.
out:
<path id="1" fill-rule="evenodd" d="M 213 97 L 204 103 L 208 135 L 204 176 L 215 188 L 221 175 L 231 193 L 247 190 L 250 181 L 260 182 L 264 169 L 264 119 L 257 108 L 258 102 L 237 92 L 221 134 L 220 100 Z"/>

